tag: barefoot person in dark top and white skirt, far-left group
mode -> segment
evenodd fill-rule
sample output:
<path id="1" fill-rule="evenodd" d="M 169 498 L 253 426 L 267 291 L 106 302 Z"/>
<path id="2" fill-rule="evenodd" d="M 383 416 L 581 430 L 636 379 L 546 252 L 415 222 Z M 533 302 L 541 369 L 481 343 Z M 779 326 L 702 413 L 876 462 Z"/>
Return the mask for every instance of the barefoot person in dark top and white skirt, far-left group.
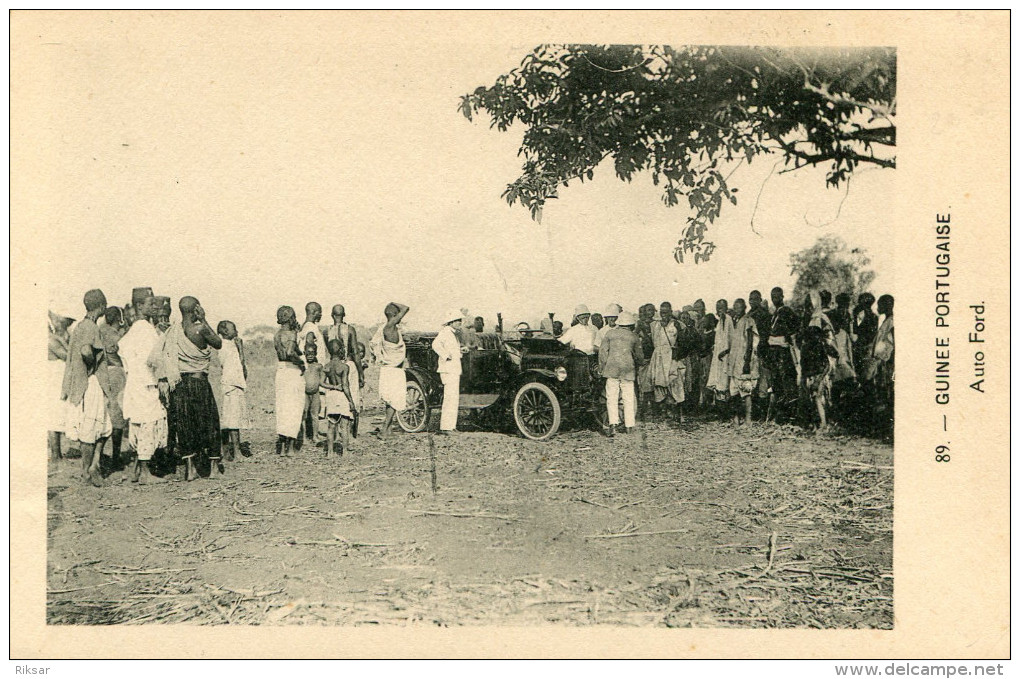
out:
<path id="1" fill-rule="evenodd" d="M 82 480 L 102 485 L 99 456 L 113 431 L 107 408 L 106 361 L 103 338 L 96 321 L 106 313 L 101 290 L 85 294 L 85 318 L 71 332 L 60 399 L 66 401 L 67 438 L 82 451 Z"/>

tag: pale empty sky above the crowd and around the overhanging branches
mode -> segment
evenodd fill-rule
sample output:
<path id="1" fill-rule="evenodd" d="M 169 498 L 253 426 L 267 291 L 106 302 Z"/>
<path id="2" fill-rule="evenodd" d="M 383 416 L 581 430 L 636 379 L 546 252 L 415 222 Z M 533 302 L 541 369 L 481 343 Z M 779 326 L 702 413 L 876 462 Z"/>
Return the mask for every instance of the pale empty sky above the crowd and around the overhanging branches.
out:
<path id="1" fill-rule="evenodd" d="M 51 306 L 81 313 L 91 288 L 121 305 L 149 285 L 247 328 L 309 301 L 372 325 L 397 301 L 416 329 L 451 308 L 490 326 L 498 311 L 568 320 L 578 303 L 711 308 L 792 289 L 789 254 L 826 233 L 863 247 L 873 290 L 892 290 L 895 170 L 861 172 L 845 192 L 821 169 L 742 166 L 707 264 L 673 260 L 683 203 L 665 207 L 649 174 L 623 182 L 608 162 L 561 190 L 541 224 L 508 206 L 522 129 L 468 122 L 457 104 L 530 44 L 407 44 L 337 21 L 263 20 L 237 38 L 54 23 L 32 54 L 45 75 L 19 93 L 43 114 L 40 209 L 24 226 L 50 238 Z"/>

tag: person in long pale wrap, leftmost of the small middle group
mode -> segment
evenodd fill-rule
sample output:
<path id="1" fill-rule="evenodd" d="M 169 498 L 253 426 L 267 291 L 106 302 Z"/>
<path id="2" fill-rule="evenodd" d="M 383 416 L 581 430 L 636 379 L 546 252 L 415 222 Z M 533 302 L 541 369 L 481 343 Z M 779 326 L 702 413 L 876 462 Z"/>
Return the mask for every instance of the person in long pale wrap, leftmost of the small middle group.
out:
<path id="1" fill-rule="evenodd" d="M 290 455 L 305 409 L 305 362 L 298 349 L 298 318 L 292 307 L 276 310 L 276 455 Z"/>

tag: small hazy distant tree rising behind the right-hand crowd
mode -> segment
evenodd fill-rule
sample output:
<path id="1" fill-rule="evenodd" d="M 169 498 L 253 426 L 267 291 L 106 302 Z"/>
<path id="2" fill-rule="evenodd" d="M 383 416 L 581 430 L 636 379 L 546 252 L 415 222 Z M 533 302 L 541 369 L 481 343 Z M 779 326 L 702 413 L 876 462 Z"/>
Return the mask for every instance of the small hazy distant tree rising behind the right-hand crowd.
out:
<path id="1" fill-rule="evenodd" d="M 800 304 L 812 290 L 827 290 L 834 298 L 850 293 L 856 301 L 867 292 L 875 272 L 861 248 L 851 249 L 843 239 L 823 236 L 811 246 L 789 256 L 789 273 L 797 276 L 793 301 Z"/>

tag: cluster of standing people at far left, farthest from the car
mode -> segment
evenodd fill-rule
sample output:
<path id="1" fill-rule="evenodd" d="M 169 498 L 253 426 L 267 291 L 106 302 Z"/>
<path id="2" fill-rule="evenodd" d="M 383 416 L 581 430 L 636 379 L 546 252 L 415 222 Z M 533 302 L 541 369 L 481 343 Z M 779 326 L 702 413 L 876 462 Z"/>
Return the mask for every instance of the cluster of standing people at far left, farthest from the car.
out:
<path id="1" fill-rule="evenodd" d="M 66 438 L 80 452 L 83 479 L 97 486 L 115 467 L 132 466 L 136 482 L 156 478 L 157 452 L 164 460 L 178 455 L 188 479 L 202 463 L 221 473 L 224 456 L 242 454 L 240 430 L 249 426 L 235 324 L 224 320 L 213 330 L 194 297 L 181 299 L 182 318 L 171 323 L 169 298 L 149 288 L 135 289 L 123 308 L 108 306 L 99 290 L 86 293 L 84 304 L 76 321 L 49 312 L 51 398 L 59 393 L 48 427 L 51 459 L 63 455 Z M 208 379 L 212 350 L 222 366 L 221 410 Z"/>

